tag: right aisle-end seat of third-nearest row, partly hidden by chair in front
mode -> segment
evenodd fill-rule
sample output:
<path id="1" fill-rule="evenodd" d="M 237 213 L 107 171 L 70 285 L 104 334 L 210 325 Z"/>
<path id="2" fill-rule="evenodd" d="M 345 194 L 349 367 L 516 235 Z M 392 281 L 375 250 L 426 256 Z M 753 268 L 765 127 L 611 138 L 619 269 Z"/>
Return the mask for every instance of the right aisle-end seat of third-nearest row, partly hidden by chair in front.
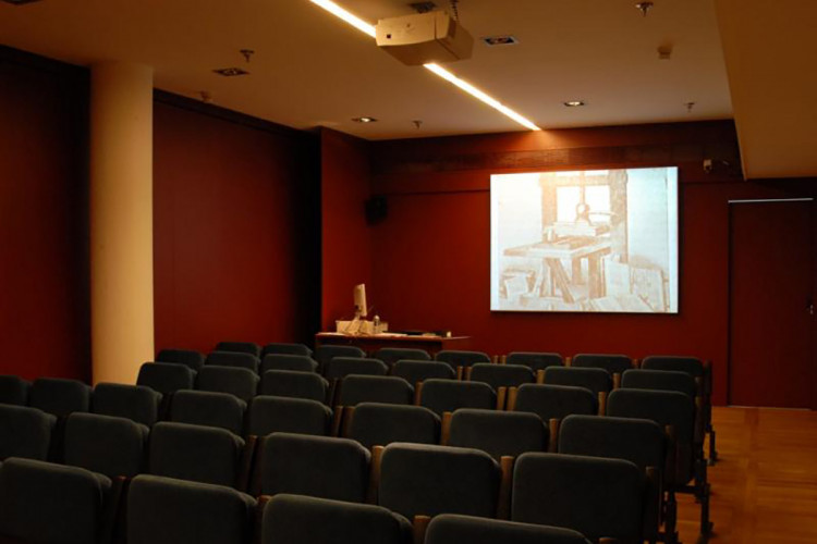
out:
<path id="1" fill-rule="evenodd" d="M 633 462 L 648 482 L 644 535 L 650 541 L 678 542 L 674 503 L 663 500 L 667 436 L 647 419 L 600 416 L 568 416 L 559 430 L 559 453 L 624 459 Z M 659 533 L 667 521 L 664 534 Z"/>

